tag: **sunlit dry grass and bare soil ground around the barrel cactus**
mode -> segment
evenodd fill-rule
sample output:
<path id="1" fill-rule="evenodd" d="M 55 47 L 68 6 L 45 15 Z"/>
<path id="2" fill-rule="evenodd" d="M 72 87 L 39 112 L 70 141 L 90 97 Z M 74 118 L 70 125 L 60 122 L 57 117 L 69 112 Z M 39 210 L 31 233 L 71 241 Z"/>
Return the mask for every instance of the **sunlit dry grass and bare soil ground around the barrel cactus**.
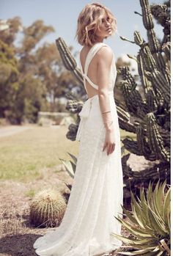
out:
<path id="1" fill-rule="evenodd" d="M 76 155 L 77 144 L 66 139 L 67 128 L 15 127 L 3 133 L 0 138 L 0 256 L 34 256 L 34 241 L 50 228 L 36 228 L 29 223 L 29 203 L 43 187 L 69 191 L 64 181 L 72 184 L 73 179 L 59 164 L 59 157 L 67 159 L 67 151 Z M 124 228 L 122 235 L 128 235 Z"/>

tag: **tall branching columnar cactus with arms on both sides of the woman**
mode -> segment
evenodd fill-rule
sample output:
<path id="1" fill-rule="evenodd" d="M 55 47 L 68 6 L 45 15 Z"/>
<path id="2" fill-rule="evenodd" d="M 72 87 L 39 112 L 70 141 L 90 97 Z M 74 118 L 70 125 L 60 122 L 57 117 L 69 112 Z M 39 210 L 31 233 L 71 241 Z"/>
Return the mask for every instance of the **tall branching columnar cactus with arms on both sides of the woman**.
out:
<path id="1" fill-rule="evenodd" d="M 144 91 L 142 98 L 133 76 L 128 67 L 119 67 L 118 74 L 122 76 L 121 88 L 125 98 L 125 106 L 117 102 L 117 114 L 119 126 L 125 131 L 136 134 L 136 141 L 128 138 L 122 140 L 125 148 L 138 156 L 144 156 L 147 160 L 155 161 L 155 166 L 150 169 L 133 172 L 127 166 L 129 154 L 122 157 L 124 181 L 127 188 L 143 180 L 160 178 L 167 179 L 169 183 L 170 174 L 170 42 L 168 29 L 166 38 L 160 43 L 155 35 L 152 12 L 148 0 L 140 0 L 142 20 L 144 28 L 147 30 L 148 42 L 146 42 L 139 32 L 134 32 L 134 42 L 139 46 L 136 56 L 141 86 Z M 163 8 L 166 12 L 166 5 Z M 152 6 L 152 11 L 154 7 Z M 159 8 L 158 8 L 159 9 Z M 169 31 L 170 32 L 170 31 Z M 165 37 L 165 34 L 164 34 Z M 126 40 L 125 37 L 120 37 Z M 56 40 L 57 48 L 62 56 L 62 60 L 68 70 L 77 74 L 79 81 L 82 80 L 81 71 L 78 70 L 73 56 L 67 51 L 64 40 Z M 78 70 L 74 72 L 74 70 Z M 67 109 L 72 113 L 78 113 L 83 106 L 82 101 L 68 95 Z M 67 138 L 76 139 L 78 130 L 77 116 L 76 125 L 71 124 L 67 133 Z M 129 182 L 128 182 L 129 181 Z M 147 185 L 147 184 L 146 184 Z"/>

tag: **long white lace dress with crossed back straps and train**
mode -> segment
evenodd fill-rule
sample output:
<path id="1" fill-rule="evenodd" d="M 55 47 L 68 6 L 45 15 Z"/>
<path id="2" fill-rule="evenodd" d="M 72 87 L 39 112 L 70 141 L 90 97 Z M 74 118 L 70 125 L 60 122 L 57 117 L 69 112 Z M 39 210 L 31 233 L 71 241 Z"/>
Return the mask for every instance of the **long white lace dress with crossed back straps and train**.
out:
<path id="1" fill-rule="evenodd" d="M 96 43 L 90 48 L 84 73 L 79 58 L 85 89 L 85 79 L 97 89 L 97 85 L 87 77 L 87 70 L 89 62 L 103 45 L 106 44 Z M 84 102 L 79 113 L 81 121 L 76 135 L 76 140 L 80 141 L 78 161 L 65 215 L 59 227 L 49 230 L 34 242 L 37 255 L 93 256 L 111 252 L 122 245 L 122 241 L 111 235 L 121 234 L 121 224 L 114 216 L 122 216 L 123 204 L 120 133 L 113 92 L 116 76 L 113 57 L 108 89 L 116 138 L 114 152 L 107 156 L 106 150 L 103 151 L 106 130 L 99 99 L 95 95 Z"/>

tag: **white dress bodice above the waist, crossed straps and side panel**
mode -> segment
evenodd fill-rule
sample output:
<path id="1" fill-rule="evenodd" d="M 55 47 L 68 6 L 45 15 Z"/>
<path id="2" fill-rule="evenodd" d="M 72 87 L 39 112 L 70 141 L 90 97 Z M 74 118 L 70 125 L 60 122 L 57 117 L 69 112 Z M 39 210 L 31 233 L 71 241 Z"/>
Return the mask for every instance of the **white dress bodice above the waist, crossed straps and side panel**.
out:
<path id="1" fill-rule="evenodd" d="M 87 92 L 86 80 L 89 82 L 89 84 L 92 87 L 94 87 L 95 89 L 98 89 L 97 84 L 94 84 L 91 81 L 91 79 L 87 76 L 87 73 L 88 73 L 89 63 L 92 61 L 92 59 L 95 56 L 95 54 L 97 53 L 97 51 L 100 48 L 102 48 L 103 46 L 107 46 L 110 48 L 110 46 L 106 45 L 106 43 L 95 43 L 95 45 L 92 45 L 92 48 L 89 49 L 89 52 L 88 52 L 86 60 L 85 60 L 84 70 L 81 66 L 81 59 L 80 59 L 80 54 L 79 54 L 78 63 L 79 63 L 80 69 L 81 69 L 81 73 L 84 77 L 84 87 L 86 89 L 86 92 Z M 113 59 L 111 62 L 111 70 L 109 73 L 109 80 L 108 80 L 108 91 L 114 90 L 114 84 L 115 84 L 116 77 L 117 77 L 117 68 L 115 65 L 114 52 L 113 52 Z"/>

